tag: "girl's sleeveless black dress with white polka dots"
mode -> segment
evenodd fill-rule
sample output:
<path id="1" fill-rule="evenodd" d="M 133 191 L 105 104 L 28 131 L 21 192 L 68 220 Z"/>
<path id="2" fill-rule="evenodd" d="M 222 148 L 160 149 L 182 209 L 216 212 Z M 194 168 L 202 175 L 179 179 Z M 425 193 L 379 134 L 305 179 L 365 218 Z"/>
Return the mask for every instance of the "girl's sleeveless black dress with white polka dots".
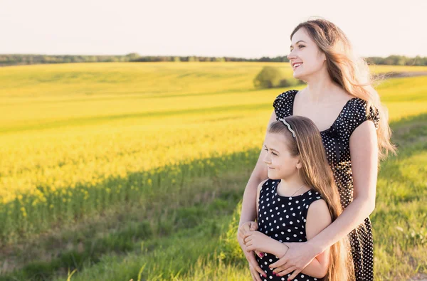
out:
<path id="1" fill-rule="evenodd" d="M 268 179 L 261 187 L 258 200 L 258 231 L 280 242 L 305 242 L 307 241 L 305 222 L 308 208 L 312 202 L 322 197 L 311 189 L 298 196 L 280 196 L 277 192 L 279 183 L 280 179 Z M 275 255 L 265 253 L 263 258 L 259 258 L 258 255 L 255 255 L 255 258 L 267 275 L 267 277 L 260 275 L 263 281 L 284 281 L 290 277 L 290 274 L 282 277 L 273 275 L 273 270 L 270 270 L 268 265 L 278 260 Z M 322 278 L 300 273 L 295 280 L 315 281 Z"/>

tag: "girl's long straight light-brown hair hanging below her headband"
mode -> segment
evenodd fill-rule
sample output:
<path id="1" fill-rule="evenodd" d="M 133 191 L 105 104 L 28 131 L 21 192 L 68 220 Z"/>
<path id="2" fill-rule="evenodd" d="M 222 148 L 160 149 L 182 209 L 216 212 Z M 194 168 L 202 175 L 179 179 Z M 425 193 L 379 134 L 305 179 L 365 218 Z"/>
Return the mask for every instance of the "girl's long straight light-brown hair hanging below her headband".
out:
<path id="1" fill-rule="evenodd" d="M 286 117 L 285 121 L 295 131 L 295 138 L 281 121 L 270 124 L 268 132 L 285 136 L 290 154 L 294 157 L 300 156 L 302 161 L 302 168 L 299 169 L 302 181 L 306 186 L 320 193 L 327 203 L 332 221 L 335 221 L 342 213 L 342 206 L 320 132 L 307 117 L 290 116 Z M 352 250 L 347 236 L 331 246 L 327 275 L 324 280 L 354 280 Z"/>

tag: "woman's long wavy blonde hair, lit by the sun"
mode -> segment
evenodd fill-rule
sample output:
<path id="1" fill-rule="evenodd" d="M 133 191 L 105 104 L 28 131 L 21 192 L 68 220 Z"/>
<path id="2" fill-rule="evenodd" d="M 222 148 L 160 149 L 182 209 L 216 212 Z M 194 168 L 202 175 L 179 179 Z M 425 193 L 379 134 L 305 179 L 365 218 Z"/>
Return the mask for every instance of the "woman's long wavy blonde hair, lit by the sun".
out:
<path id="1" fill-rule="evenodd" d="M 298 24 L 290 34 L 291 41 L 300 28 L 305 28 L 320 51 L 325 53 L 327 71 L 332 80 L 350 95 L 367 100 L 367 115 L 371 114 L 371 106 L 373 112 L 379 110 L 379 126 L 376 130 L 379 160 L 385 159 L 389 152 L 396 153 L 396 147 L 390 142 L 389 114 L 386 107 L 381 105 L 378 92 L 372 87 L 374 80 L 367 61 L 354 55 L 347 36 L 330 21 L 318 18 Z"/>

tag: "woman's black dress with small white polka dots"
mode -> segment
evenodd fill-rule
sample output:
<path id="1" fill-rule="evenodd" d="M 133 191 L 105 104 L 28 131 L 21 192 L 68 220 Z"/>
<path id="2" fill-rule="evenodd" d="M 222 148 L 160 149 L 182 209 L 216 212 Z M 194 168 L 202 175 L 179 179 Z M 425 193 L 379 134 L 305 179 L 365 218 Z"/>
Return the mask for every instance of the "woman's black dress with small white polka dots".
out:
<path id="1" fill-rule="evenodd" d="M 277 119 L 293 114 L 293 103 L 297 92 L 297 90 L 289 90 L 276 97 L 273 107 Z M 354 129 L 366 120 L 374 122 L 376 129 L 378 129 L 378 110 L 370 107 L 369 113 L 367 113 L 367 101 L 354 97 L 344 105 L 332 126 L 320 132 L 327 159 L 339 189 L 343 208 L 346 208 L 353 201 L 353 176 L 349 139 Z M 364 223 L 349 233 L 349 240 L 352 246 L 356 280 L 374 280 L 373 239 L 369 217 L 365 218 Z"/>

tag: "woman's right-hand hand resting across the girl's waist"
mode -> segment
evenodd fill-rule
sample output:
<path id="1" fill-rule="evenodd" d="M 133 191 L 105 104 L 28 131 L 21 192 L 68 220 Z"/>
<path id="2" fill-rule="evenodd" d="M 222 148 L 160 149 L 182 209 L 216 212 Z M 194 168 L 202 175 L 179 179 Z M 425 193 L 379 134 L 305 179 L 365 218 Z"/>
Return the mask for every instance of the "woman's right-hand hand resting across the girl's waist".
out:
<path id="1" fill-rule="evenodd" d="M 270 269 L 278 276 L 288 275 L 288 280 L 297 277 L 304 268 L 316 258 L 315 249 L 307 242 L 284 243 L 289 247 L 285 255 L 270 265 Z"/>

